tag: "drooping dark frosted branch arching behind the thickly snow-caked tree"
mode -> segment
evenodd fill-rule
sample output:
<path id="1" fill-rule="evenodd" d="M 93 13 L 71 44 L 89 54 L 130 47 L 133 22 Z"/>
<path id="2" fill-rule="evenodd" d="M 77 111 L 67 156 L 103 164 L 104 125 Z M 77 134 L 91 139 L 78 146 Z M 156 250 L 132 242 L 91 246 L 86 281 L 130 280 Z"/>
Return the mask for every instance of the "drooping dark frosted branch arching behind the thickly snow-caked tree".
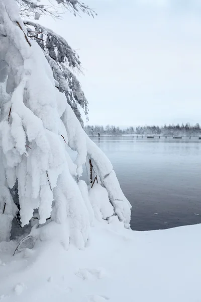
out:
<path id="1" fill-rule="evenodd" d="M 55 86 L 65 93 L 70 107 L 83 126 L 80 110 L 88 113 L 88 102 L 81 89 L 80 83 L 73 74 L 73 68 L 81 69 L 81 62 L 77 53 L 61 36 L 52 30 L 32 21 L 24 21 L 29 37 L 36 40 L 45 53 L 55 79 Z"/>

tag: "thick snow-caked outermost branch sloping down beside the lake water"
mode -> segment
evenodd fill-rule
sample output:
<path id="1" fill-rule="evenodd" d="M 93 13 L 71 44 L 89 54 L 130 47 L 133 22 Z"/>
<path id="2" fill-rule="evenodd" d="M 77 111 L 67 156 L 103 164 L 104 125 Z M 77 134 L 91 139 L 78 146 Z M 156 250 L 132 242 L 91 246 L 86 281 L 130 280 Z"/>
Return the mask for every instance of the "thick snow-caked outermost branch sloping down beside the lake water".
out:
<path id="1" fill-rule="evenodd" d="M 124 222 L 125 227 L 129 228 L 131 205 L 120 188 L 111 162 L 81 128 L 70 106 L 67 106 L 61 119 L 67 130 L 69 146 L 78 153 L 75 161 L 78 175 L 81 175 L 82 165 L 85 163 L 87 171 L 90 173 L 88 163 L 91 160 L 93 167 L 92 178 L 98 177 L 99 183 L 106 188 L 109 194 L 109 199 L 114 206 L 115 213 L 118 215 L 120 221 Z"/>

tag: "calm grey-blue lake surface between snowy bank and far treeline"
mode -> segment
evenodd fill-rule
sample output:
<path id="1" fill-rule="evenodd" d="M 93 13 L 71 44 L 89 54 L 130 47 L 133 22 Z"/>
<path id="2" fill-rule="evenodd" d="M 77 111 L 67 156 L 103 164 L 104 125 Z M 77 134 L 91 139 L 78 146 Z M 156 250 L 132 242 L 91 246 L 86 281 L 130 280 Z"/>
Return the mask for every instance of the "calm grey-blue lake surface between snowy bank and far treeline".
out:
<path id="1" fill-rule="evenodd" d="M 201 140 L 91 137 L 113 164 L 131 202 L 131 228 L 201 222 Z"/>

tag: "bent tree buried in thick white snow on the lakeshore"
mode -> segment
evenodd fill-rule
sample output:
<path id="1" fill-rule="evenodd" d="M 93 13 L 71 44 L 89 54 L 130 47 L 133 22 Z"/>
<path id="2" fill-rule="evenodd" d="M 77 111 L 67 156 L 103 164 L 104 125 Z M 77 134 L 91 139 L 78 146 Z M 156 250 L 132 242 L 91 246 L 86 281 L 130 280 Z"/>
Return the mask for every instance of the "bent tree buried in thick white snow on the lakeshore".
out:
<path id="1" fill-rule="evenodd" d="M 15 1 L 0 0 L 0 241 L 9 240 L 20 209 L 21 226 L 32 226 L 27 244 L 56 234 L 66 248 L 83 249 L 94 217 L 116 215 L 129 228 L 131 206 L 112 164 L 55 87 L 49 54 L 28 36 Z"/>

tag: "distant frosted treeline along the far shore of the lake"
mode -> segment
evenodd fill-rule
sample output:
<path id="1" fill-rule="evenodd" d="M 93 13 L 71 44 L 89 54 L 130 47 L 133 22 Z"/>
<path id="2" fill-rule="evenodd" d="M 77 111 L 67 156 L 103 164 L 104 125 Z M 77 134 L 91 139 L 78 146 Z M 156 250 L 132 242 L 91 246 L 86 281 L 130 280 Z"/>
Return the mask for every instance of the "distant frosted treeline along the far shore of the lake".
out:
<path id="1" fill-rule="evenodd" d="M 84 127 L 88 135 L 124 135 L 124 134 L 161 134 L 161 135 L 201 135 L 201 127 L 199 124 L 190 125 L 187 124 L 177 124 L 177 125 L 164 125 L 164 126 L 138 126 L 138 127 L 128 127 L 125 129 L 120 129 L 117 126 L 107 125 L 104 126 L 85 126 Z"/>

